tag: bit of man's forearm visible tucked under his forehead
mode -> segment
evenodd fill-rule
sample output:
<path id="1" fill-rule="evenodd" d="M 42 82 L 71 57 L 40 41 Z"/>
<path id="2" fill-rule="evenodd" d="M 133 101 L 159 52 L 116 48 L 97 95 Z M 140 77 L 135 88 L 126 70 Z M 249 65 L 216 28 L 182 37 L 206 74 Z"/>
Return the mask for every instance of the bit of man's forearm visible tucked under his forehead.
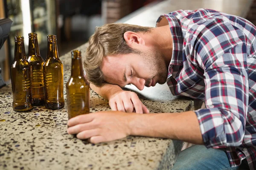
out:
<path id="1" fill-rule="evenodd" d="M 105 83 L 101 87 L 97 87 L 96 85 L 90 84 L 90 88 L 93 89 L 97 94 L 102 96 L 104 99 L 109 100 L 110 96 L 118 91 L 122 91 L 118 85 L 112 85 Z"/>

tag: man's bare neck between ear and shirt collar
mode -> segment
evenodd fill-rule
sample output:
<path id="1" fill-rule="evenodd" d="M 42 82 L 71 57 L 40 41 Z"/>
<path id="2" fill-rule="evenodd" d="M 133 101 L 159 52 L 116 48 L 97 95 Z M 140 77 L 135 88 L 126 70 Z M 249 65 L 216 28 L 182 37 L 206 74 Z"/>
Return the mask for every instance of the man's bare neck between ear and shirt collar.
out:
<path id="1" fill-rule="evenodd" d="M 153 28 L 149 34 L 152 45 L 163 54 L 168 67 L 172 59 L 172 34 L 169 25 Z"/>

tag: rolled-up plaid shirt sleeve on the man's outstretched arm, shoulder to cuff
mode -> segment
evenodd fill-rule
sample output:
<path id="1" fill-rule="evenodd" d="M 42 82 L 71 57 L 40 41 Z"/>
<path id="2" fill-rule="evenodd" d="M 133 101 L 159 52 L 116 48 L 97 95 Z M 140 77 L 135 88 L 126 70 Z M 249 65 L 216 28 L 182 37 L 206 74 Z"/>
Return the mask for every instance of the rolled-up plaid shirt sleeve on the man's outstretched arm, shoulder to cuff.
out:
<path id="1" fill-rule="evenodd" d="M 233 27 L 215 28 L 198 41 L 206 109 L 195 111 L 207 148 L 239 146 L 248 105 L 247 37 Z M 225 31 L 223 31 L 225 30 Z"/>

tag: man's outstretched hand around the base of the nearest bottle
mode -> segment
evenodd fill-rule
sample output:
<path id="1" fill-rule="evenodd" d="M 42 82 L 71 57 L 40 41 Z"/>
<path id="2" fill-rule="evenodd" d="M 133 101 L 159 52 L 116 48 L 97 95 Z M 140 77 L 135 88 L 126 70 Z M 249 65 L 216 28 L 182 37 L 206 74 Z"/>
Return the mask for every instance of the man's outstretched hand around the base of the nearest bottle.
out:
<path id="1" fill-rule="evenodd" d="M 131 119 L 137 114 L 119 111 L 97 112 L 76 116 L 67 123 L 69 134 L 78 139 L 89 139 L 91 143 L 109 142 L 131 134 Z"/>

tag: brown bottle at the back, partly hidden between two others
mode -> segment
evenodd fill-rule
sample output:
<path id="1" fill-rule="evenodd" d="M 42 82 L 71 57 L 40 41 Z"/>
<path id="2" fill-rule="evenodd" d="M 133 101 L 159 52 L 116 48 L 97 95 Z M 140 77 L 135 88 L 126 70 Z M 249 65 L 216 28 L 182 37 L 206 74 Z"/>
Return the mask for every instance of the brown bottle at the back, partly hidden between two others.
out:
<path id="1" fill-rule="evenodd" d="M 29 58 L 32 66 L 31 88 L 34 106 L 44 105 L 44 59 L 40 55 L 36 33 L 29 33 Z"/>

